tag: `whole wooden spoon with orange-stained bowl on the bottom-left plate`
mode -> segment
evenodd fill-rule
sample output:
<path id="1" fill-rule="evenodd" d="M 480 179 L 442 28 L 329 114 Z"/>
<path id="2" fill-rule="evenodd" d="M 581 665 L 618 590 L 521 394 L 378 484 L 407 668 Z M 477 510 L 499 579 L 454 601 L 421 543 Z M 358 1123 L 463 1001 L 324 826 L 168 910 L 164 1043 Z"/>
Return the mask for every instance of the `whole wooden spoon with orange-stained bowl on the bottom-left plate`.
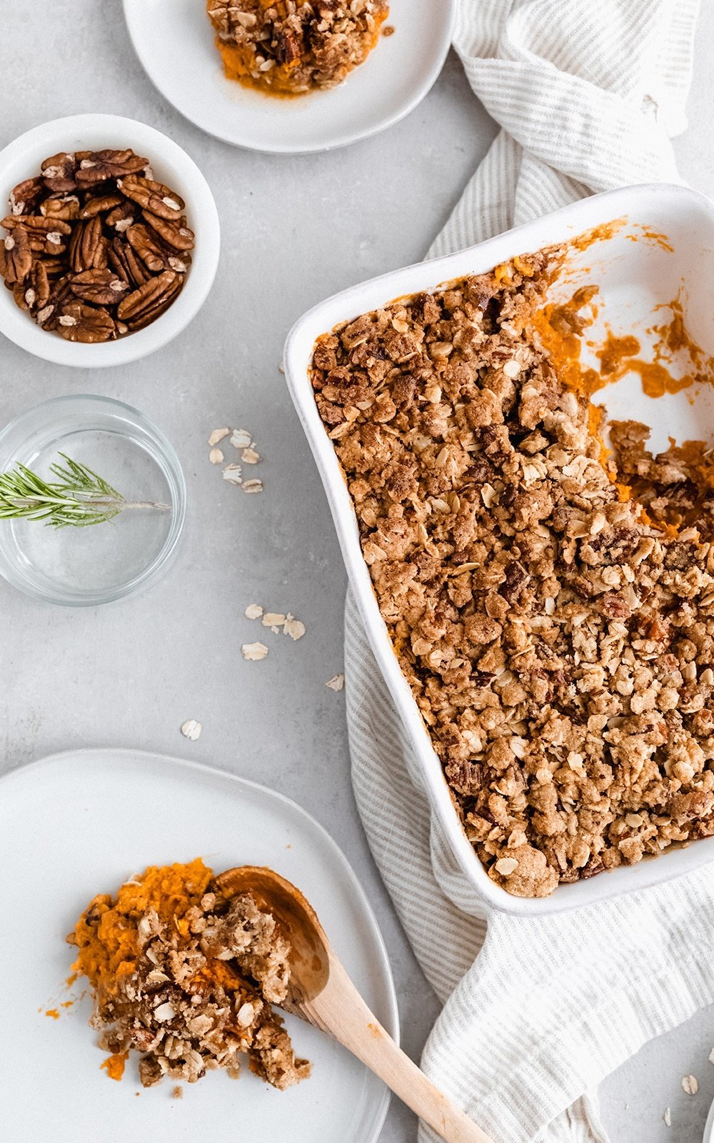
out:
<path id="1" fill-rule="evenodd" d="M 334 1036 L 447 1143 L 492 1143 L 398 1048 L 335 956 L 315 911 L 272 869 L 241 865 L 216 878 L 226 896 L 250 893 L 290 941 L 289 993 L 281 1007 Z"/>

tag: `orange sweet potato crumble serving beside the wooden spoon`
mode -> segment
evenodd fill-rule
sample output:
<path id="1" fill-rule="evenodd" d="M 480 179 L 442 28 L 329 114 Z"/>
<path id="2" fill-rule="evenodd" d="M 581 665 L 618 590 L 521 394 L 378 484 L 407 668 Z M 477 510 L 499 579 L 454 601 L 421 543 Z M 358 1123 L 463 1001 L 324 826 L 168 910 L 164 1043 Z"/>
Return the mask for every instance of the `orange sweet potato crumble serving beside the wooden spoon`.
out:
<path id="1" fill-rule="evenodd" d="M 289 942 L 250 894 L 223 897 L 200 858 L 95 897 L 67 941 L 93 988 L 101 1047 L 141 1052 L 144 1087 L 217 1068 L 236 1077 L 246 1054 L 280 1089 L 310 1074 L 271 1007 L 287 996 Z"/>

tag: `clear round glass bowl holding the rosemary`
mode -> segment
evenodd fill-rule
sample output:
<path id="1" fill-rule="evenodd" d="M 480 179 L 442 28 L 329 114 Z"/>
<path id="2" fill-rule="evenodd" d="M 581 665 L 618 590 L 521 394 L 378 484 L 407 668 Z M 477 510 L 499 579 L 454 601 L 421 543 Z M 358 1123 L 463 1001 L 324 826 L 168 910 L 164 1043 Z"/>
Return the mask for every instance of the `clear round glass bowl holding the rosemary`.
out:
<path id="1" fill-rule="evenodd" d="M 0 472 L 24 464 L 47 480 L 65 454 L 97 472 L 134 507 L 91 527 L 0 519 L 0 575 L 30 596 L 71 607 L 122 599 L 166 568 L 184 526 L 186 485 L 163 433 L 107 397 L 57 397 L 0 432 Z"/>

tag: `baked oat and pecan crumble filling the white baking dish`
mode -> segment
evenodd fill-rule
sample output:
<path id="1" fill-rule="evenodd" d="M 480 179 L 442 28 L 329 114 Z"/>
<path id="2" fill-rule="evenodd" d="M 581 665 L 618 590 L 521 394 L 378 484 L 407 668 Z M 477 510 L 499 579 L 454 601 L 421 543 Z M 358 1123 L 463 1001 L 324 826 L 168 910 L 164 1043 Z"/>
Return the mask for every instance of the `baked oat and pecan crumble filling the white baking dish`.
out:
<path id="1" fill-rule="evenodd" d="M 608 458 L 539 347 L 560 256 L 362 314 L 312 367 L 399 663 L 518 896 L 714 833 L 714 465 L 634 422 Z"/>

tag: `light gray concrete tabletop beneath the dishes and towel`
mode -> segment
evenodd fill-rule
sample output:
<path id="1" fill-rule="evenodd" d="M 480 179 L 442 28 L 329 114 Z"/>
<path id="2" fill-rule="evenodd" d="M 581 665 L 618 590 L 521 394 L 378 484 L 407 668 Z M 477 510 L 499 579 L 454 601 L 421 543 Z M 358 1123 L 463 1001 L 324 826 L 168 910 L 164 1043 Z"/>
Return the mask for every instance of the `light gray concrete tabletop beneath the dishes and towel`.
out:
<path id="1" fill-rule="evenodd" d="M 131 50 L 118 0 L 15 0 L 3 13 L 0 145 L 61 114 L 118 112 L 153 123 L 199 162 L 220 211 L 224 248 L 210 298 L 167 350 L 86 375 L 0 341 L 0 422 L 47 397 L 93 391 L 138 406 L 184 463 L 185 543 L 146 594 L 98 610 L 34 602 L 0 582 L 0 767 L 85 744 L 136 745 L 211 762 L 275 785 L 339 840 L 384 933 L 403 1044 L 418 1057 L 438 1005 L 370 858 L 350 785 L 342 670 L 345 574 L 318 474 L 278 370 L 284 334 L 313 302 L 414 262 L 446 222 L 495 126 L 455 57 L 424 103 L 385 135 L 334 154 L 268 157 L 233 150 L 185 122 Z M 38 26 L 41 24 L 41 29 Z M 714 11 L 698 33 L 690 129 L 681 169 L 712 193 Z M 206 438 L 250 429 L 265 456 L 262 496 L 220 480 Z M 246 663 L 256 638 L 247 604 L 290 609 L 307 634 Z M 179 727 L 196 718 L 196 743 Z M 613 1143 L 699 1143 L 714 1095 L 714 1015 L 649 1045 L 602 1088 Z M 699 1079 L 687 1096 L 681 1077 Z M 661 1120 L 672 1108 L 672 1128 Z M 395 1102 L 384 1143 L 415 1138 Z"/>

